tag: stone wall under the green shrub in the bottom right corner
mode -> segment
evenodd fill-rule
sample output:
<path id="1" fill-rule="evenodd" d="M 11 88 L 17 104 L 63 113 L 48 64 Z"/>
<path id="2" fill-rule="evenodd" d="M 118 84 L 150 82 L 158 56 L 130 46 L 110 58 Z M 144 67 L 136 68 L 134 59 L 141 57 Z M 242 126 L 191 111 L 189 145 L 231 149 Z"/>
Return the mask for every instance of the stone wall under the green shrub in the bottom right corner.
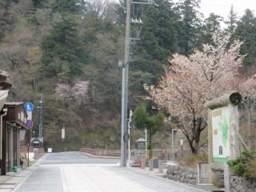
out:
<path id="1" fill-rule="evenodd" d="M 256 180 L 231 176 L 230 192 L 256 192 Z"/>

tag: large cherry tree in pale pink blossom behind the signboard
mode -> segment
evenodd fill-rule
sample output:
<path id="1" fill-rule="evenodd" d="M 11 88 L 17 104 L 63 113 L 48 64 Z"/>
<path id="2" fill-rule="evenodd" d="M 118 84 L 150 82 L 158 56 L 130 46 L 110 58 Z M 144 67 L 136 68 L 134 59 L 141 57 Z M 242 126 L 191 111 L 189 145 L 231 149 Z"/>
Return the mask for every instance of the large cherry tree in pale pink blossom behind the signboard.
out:
<path id="1" fill-rule="evenodd" d="M 230 35 L 213 35 L 213 45 L 204 45 L 203 50 L 194 50 L 190 56 L 174 54 L 170 67 L 158 87 L 145 86 L 154 102 L 166 108 L 189 142 L 191 152 L 198 153 L 200 136 L 206 128 L 204 103 L 242 87 L 242 42 L 230 46 Z"/>

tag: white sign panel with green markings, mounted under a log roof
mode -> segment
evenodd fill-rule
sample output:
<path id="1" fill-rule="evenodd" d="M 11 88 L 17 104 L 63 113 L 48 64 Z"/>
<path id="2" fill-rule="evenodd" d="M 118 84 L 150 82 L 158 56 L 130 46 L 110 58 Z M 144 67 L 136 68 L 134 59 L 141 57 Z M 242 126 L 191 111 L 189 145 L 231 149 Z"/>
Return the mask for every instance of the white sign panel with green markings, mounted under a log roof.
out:
<path id="1" fill-rule="evenodd" d="M 228 106 L 212 111 L 213 160 L 227 162 L 230 157 L 230 111 Z"/>

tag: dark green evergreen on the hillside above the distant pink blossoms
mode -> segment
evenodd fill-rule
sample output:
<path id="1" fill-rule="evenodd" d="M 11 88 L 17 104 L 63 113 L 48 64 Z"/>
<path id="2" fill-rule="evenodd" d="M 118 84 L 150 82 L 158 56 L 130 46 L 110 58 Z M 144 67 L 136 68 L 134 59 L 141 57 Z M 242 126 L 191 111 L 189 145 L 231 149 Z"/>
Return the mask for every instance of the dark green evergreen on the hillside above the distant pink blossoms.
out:
<path id="1" fill-rule="evenodd" d="M 81 74 L 85 53 L 75 25 L 71 18 L 63 18 L 42 41 L 42 62 L 47 76 L 71 78 Z"/>

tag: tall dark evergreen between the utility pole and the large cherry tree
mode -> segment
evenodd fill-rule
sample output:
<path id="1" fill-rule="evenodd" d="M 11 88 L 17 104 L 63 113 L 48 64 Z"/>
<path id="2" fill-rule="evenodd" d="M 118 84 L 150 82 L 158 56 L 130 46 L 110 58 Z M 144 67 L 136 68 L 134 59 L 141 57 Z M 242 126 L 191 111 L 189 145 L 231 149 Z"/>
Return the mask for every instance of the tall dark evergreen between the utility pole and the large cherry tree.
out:
<path id="1" fill-rule="evenodd" d="M 178 15 L 173 4 L 166 0 L 155 1 L 142 13 L 140 41 L 131 46 L 130 87 L 136 94 L 145 94 L 144 83 L 156 83 L 163 74 L 170 54 L 178 51 Z"/>

